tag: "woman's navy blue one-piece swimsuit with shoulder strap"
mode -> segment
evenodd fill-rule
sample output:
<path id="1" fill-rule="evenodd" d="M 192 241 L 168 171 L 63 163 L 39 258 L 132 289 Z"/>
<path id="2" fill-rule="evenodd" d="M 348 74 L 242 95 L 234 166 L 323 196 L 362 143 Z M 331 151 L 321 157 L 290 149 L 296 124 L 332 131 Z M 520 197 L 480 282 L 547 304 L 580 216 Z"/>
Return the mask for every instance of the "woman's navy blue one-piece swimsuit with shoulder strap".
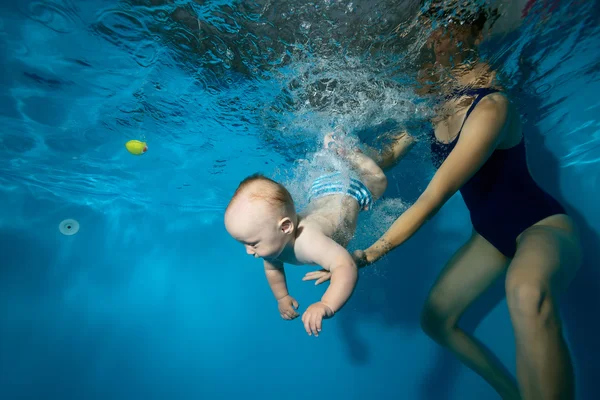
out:
<path id="1" fill-rule="evenodd" d="M 479 101 L 495 89 L 475 89 L 461 93 L 476 96 L 467 111 L 456 138 L 450 143 L 431 143 L 432 161 L 439 168 L 456 146 L 467 118 Z M 512 258 L 517 237 L 536 222 L 555 214 L 566 214 L 564 208 L 544 192 L 531 177 L 525 157 L 525 143 L 510 149 L 495 150 L 483 166 L 460 188 L 471 214 L 475 231 Z"/>

